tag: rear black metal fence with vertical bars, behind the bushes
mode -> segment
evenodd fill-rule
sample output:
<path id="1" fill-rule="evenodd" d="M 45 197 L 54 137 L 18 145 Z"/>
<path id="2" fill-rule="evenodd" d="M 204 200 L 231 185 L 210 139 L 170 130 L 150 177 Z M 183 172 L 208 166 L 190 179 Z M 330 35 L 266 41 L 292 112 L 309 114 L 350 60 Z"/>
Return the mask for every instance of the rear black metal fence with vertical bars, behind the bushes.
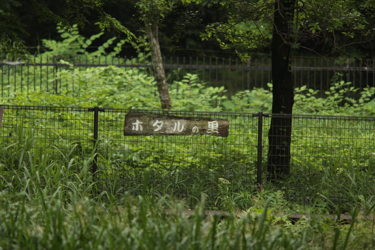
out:
<path id="1" fill-rule="evenodd" d="M 61 59 L 71 65 L 61 63 Z M 182 79 L 186 73 L 197 74 L 209 86 L 225 86 L 228 94 L 248 90 L 254 87 L 268 88 L 271 82 L 271 58 L 248 59 L 247 62 L 237 58 L 213 57 L 169 57 L 164 58 L 164 69 L 169 84 Z M 152 75 L 152 66 L 145 58 L 127 57 L 74 57 L 57 58 L 34 56 L 28 60 L 8 60 L 0 62 L 1 96 L 8 96 L 14 91 L 50 91 L 60 93 L 62 90 L 76 92 L 78 82 L 53 80 L 58 72 L 74 66 L 84 70 L 88 67 L 115 65 L 136 73 Z M 375 87 L 374 61 L 331 62 L 316 58 L 298 58 L 292 60 L 293 80 L 295 87 L 306 85 L 307 88 L 320 90 L 320 95 L 329 90 L 332 79 L 352 82 L 356 88 Z"/>

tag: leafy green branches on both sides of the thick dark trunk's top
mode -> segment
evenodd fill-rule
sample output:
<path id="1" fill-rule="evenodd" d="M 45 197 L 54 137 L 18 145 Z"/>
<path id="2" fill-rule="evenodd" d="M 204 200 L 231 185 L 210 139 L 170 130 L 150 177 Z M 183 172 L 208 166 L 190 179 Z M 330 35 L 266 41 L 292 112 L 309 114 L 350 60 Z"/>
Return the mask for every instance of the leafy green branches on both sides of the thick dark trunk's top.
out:
<path id="1" fill-rule="evenodd" d="M 197 1 L 198 3 L 202 1 Z M 220 1 L 226 9 L 223 22 L 213 22 L 205 27 L 202 40 L 213 39 L 223 49 L 235 49 L 244 60 L 247 52 L 259 47 L 269 47 L 273 38 L 275 4 L 279 10 L 285 2 L 275 1 Z M 277 9 L 277 8 L 276 8 Z M 361 11 L 361 9 L 363 11 Z M 338 52 L 356 52 L 347 49 L 358 43 L 372 49 L 373 28 L 369 4 L 359 1 L 296 1 L 289 10 L 293 14 L 288 31 L 278 31 L 284 41 L 294 48 L 305 48 L 327 56 Z M 289 39 L 290 37 L 291 39 Z M 324 53 L 318 46 L 324 46 Z"/>

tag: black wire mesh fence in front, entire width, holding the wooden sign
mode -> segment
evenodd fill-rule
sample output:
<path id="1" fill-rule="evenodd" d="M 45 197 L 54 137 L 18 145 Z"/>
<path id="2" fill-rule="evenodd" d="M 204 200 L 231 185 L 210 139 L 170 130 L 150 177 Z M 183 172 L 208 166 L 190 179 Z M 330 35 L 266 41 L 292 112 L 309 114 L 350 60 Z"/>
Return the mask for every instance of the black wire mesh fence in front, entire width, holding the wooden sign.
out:
<path id="1" fill-rule="evenodd" d="M 99 190 L 139 194 L 147 171 L 149 189 L 184 198 L 191 206 L 202 193 L 208 197 L 207 205 L 216 207 L 226 192 L 252 194 L 260 185 L 278 187 L 289 201 L 306 205 L 322 197 L 350 202 L 349 194 L 336 189 L 338 183 L 353 189 L 350 174 L 368 171 L 375 163 L 374 117 L 292 115 L 290 173 L 275 184 L 265 172 L 267 135 L 271 118 L 285 115 L 1 106 L 4 178 L 10 178 L 9 168 L 17 165 L 14 156 L 28 147 L 37 157 L 48 153 L 62 166 L 71 159 L 81 162 L 72 172 L 89 164 Z M 124 136 L 124 118 L 134 111 L 223 118 L 229 121 L 229 136 Z"/>

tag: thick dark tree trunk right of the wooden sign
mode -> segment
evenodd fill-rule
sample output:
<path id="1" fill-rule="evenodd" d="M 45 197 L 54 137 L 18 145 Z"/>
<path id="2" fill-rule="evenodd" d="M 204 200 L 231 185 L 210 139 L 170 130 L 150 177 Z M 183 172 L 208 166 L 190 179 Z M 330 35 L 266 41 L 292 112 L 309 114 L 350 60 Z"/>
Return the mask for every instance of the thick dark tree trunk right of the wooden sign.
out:
<path id="1" fill-rule="evenodd" d="M 268 134 L 267 172 L 271 181 L 284 179 L 290 171 L 291 125 L 294 104 L 291 74 L 291 31 L 295 0 L 279 0 L 275 4 L 272 38 L 273 99 Z M 282 114 L 282 115 L 281 115 Z"/>

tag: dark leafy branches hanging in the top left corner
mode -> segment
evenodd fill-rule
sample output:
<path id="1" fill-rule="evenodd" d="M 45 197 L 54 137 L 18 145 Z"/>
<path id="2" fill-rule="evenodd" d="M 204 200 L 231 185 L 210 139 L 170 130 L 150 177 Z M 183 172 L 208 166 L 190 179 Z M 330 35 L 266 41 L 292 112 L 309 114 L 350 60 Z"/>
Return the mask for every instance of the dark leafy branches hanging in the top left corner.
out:
<path id="1" fill-rule="evenodd" d="M 102 0 L 79 0 L 79 1 L 64 1 L 61 13 L 57 14 L 52 12 L 43 1 L 31 0 L 29 7 L 33 7 L 39 17 L 39 22 L 52 21 L 58 23 L 66 33 L 70 33 L 70 42 L 78 39 L 80 42 L 81 37 L 77 36 L 77 26 L 83 28 L 88 22 L 86 16 L 90 13 L 98 13 L 99 25 L 102 31 L 115 30 L 117 33 L 125 34 L 127 39 L 135 39 L 135 36 L 120 21 L 113 18 L 105 11 L 105 1 Z M 1 20 L 1 37 L 0 37 L 0 52 L 2 54 L 10 53 L 13 57 L 24 56 L 28 54 L 23 41 L 18 37 L 19 32 L 26 33 L 26 24 L 21 23 L 17 11 L 17 7 L 23 5 L 18 0 L 6 0 L 5 4 L 0 9 Z M 74 19 L 75 25 L 71 25 L 71 20 Z M 69 41 L 66 41 L 69 42 Z M 49 44 L 56 45 L 56 44 Z"/>

